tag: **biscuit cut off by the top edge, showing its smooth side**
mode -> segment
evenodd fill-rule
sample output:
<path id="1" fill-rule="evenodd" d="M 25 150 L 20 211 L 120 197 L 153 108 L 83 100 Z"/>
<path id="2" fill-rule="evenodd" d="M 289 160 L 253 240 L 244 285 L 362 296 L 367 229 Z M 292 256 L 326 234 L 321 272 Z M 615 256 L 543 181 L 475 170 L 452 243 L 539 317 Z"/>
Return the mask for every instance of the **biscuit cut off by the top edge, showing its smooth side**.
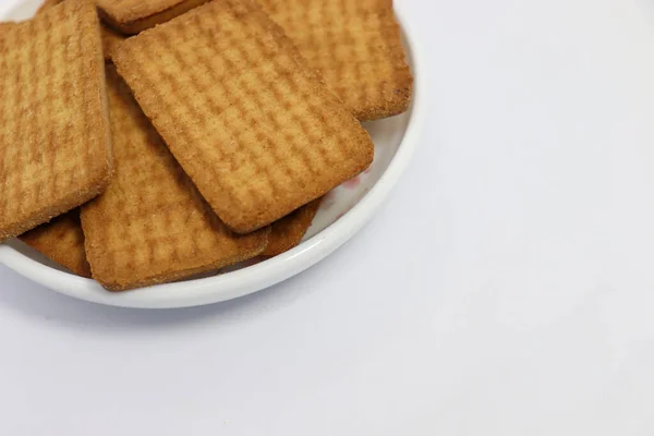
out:
<path id="1" fill-rule="evenodd" d="M 208 0 L 96 0 L 102 20 L 128 35 L 166 23 Z"/>

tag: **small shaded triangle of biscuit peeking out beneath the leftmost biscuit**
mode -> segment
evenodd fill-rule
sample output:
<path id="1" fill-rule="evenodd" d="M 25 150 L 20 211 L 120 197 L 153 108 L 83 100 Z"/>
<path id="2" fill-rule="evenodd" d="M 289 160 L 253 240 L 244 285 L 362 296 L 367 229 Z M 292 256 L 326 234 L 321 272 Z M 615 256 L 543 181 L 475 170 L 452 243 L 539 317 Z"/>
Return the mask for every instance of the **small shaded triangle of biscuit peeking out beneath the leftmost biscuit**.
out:
<path id="1" fill-rule="evenodd" d="M 76 275 L 90 277 L 78 208 L 23 233 L 19 239 Z"/>

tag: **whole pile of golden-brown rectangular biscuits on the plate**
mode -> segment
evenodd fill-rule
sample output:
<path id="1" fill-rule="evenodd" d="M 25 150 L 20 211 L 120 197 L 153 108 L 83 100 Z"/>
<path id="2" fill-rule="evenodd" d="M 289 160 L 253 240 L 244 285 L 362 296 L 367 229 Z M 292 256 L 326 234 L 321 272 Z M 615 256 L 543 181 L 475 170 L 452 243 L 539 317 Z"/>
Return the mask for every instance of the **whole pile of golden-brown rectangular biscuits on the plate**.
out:
<path id="1" fill-rule="evenodd" d="M 278 255 L 412 82 L 392 0 L 47 0 L 0 23 L 0 242 L 110 291 Z"/>

